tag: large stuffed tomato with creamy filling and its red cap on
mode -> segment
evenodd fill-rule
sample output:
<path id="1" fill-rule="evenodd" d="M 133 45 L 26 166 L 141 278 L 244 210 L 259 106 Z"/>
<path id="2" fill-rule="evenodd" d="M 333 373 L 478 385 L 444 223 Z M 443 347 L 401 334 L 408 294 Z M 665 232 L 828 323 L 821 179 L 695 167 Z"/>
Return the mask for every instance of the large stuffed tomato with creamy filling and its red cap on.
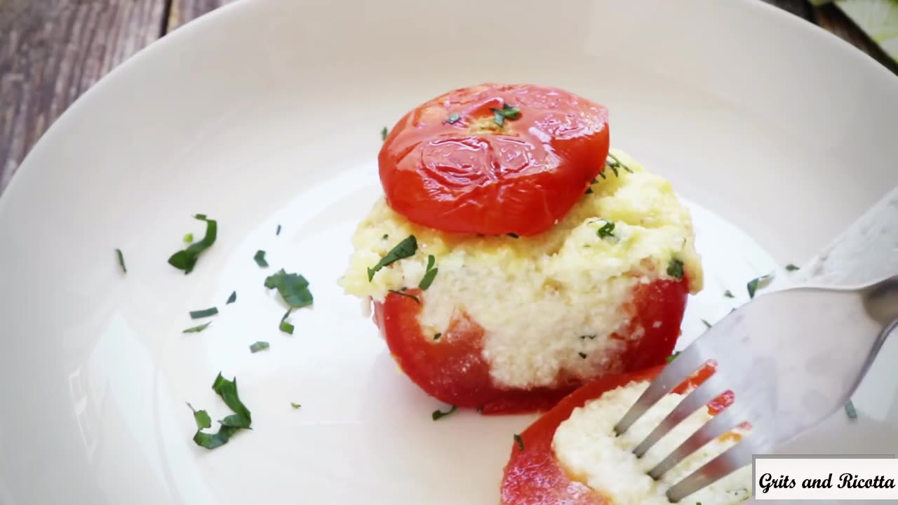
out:
<path id="1" fill-rule="evenodd" d="M 700 259 L 670 184 L 608 148 L 607 111 L 526 85 L 409 112 L 340 284 L 374 303 L 402 371 L 485 413 L 541 411 L 665 362 Z"/>

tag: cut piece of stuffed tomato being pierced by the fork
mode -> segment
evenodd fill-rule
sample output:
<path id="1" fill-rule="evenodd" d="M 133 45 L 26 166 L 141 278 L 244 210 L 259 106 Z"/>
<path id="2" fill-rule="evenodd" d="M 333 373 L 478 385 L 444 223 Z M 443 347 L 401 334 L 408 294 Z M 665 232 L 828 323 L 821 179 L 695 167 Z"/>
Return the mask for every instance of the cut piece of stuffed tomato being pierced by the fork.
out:
<path id="1" fill-rule="evenodd" d="M 708 377 L 705 368 L 667 394 L 626 433 L 613 427 L 636 402 L 661 368 L 596 379 L 561 400 L 515 439 L 501 484 L 501 505 L 667 505 L 665 492 L 750 430 L 740 425 L 686 457 L 658 481 L 647 475 L 654 465 L 698 430 L 712 415 L 732 403 L 724 394 L 707 409 L 691 414 L 646 455 L 634 447 L 654 429 L 682 396 Z M 694 492 L 682 503 L 724 505 L 750 497 L 752 469 L 736 470 Z"/>

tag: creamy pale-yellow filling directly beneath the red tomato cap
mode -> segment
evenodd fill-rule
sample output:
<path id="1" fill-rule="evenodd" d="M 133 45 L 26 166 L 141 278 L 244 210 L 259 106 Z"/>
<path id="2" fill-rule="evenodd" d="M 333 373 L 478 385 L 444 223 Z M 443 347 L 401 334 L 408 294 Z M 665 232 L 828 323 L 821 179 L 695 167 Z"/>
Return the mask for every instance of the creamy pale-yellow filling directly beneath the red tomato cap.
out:
<path id="1" fill-rule="evenodd" d="M 621 151 L 612 154 L 632 173 L 606 170 L 541 235 L 445 233 L 409 222 L 380 199 L 357 228 L 339 283 L 348 294 L 383 301 L 392 289 L 418 287 L 434 255 L 438 274 L 421 299 L 423 333 L 444 332 L 456 311 L 467 313 L 485 330 L 483 357 L 497 385 L 530 388 L 615 371 L 609 356 L 625 342 L 610 336 L 629 323 L 633 289 L 671 279 L 674 263 L 696 293 L 702 271 L 689 210 L 670 183 Z M 417 252 L 369 281 L 368 269 L 409 235 Z"/>

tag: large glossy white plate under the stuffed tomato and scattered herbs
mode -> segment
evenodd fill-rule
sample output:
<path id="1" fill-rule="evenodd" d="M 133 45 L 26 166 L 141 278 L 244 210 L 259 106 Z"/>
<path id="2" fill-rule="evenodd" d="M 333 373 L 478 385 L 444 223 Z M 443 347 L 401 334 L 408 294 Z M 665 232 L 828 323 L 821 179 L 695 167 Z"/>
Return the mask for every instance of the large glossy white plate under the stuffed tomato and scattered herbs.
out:
<path id="1" fill-rule="evenodd" d="M 695 203 L 709 283 L 687 339 L 729 309 L 724 288 L 744 300 L 747 279 L 898 183 L 898 80 L 758 2 L 233 4 L 86 93 L 0 199 L 0 502 L 496 503 L 532 417 L 431 421 L 440 403 L 335 283 L 379 191 L 381 127 L 484 81 L 605 103 L 613 144 Z M 218 242 L 184 276 L 166 259 L 201 234 L 198 212 Z M 292 337 L 262 288 L 282 266 L 315 296 Z M 207 306 L 212 326 L 181 334 Z M 863 419 L 836 416 L 797 451 L 896 452 L 895 347 L 858 394 Z M 254 430 L 208 452 L 184 403 L 227 413 L 219 370 Z"/>

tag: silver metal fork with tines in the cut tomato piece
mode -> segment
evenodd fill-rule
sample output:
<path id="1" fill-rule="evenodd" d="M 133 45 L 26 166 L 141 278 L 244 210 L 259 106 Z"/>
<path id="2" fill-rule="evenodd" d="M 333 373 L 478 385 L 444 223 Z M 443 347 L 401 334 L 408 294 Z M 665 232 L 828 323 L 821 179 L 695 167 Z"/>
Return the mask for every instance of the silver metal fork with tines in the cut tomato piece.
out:
<path id="1" fill-rule="evenodd" d="M 838 264 L 833 265 L 834 261 Z M 874 264 L 858 266 L 850 261 Z M 885 338 L 898 327 L 898 189 L 806 268 L 805 286 L 756 297 L 701 335 L 665 367 L 615 425 L 621 435 L 676 385 L 709 360 L 716 361 L 714 375 L 688 393 L 634 454 L 645 455 L 692 412 L 726 391 L 735 394 L 735 402 L 648 474 L 660 478 L 684 457 L 744 421 L 751 423 L 752 430 L 675 483 L 667 491 L 669 501 L 680 501 L 751 464 L 753 455 L 770 453 L 850 399 Z M 833 278 L 863 280 L 853 287 L 820 285 L 819 280 Z"/>

